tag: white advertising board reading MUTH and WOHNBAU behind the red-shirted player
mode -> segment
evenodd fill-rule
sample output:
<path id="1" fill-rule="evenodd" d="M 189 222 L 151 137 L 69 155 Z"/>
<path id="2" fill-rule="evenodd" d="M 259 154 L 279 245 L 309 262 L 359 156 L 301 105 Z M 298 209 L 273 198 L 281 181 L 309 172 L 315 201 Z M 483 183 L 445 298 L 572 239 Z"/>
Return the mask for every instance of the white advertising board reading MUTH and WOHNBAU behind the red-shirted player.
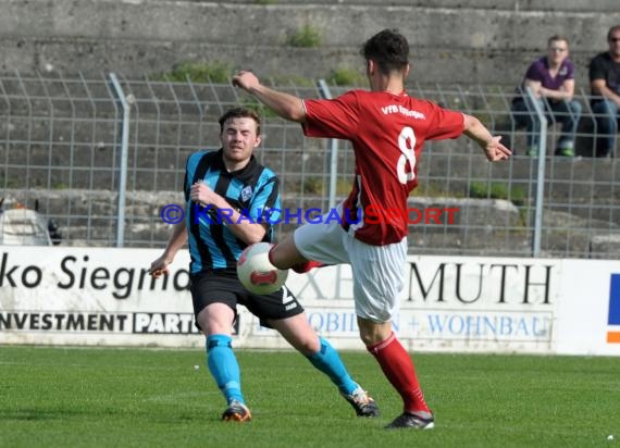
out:
<path id="1" fill-rule="evenodd" d="M 400 311 L 393 324 L 409 348 L 553 351 L 557 261 L 410 257 L 406 273 Z M 289 278 L 288 286 L 322 334 L 357 338 L 348 266 L 314 270 Z M 328 285 L 338 285 L 339 291 L 332 295 L 336 288 Z M 335 297 L 348 300 L 334 302 Z M 321 298 L 328 299 L 328 308 L 315 308 Z"/>

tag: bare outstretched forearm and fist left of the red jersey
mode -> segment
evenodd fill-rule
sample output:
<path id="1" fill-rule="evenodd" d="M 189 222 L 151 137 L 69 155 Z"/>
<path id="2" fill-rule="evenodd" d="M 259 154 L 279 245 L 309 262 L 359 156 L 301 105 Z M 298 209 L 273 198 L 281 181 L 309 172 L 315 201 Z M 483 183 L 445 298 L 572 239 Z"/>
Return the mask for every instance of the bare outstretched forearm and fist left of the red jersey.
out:
<path id="1" fill-rule="evenodd" d="M 233 85 L 256 97 L 283 119 L 298 123 L 303 123 L 306 120 L 306 111 L 300 98 L 263 86 L 252 72 L 238 72 L 233 76 Z"/>

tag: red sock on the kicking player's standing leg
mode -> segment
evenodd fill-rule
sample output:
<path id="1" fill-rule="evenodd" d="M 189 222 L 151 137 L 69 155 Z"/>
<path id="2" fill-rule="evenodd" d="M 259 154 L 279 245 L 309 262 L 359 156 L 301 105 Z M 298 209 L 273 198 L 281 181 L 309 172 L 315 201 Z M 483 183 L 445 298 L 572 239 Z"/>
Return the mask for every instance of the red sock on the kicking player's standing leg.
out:
<path id="1" fill-rule="evenodd" d="M 367 349 L 376 358 L 383 373 L 402 397 L 405 411 L 431 412 L 424 401 L 413 362 L 394 333 L 387 339 Z"/>

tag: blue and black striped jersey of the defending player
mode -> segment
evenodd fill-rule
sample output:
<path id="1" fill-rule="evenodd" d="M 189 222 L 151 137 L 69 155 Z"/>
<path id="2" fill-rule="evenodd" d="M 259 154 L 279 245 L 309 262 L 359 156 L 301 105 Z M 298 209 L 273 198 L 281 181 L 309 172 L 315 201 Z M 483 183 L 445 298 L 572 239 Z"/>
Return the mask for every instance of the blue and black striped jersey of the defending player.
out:
<path id="1" fill-rule="evenodd" d="M 231 173 L 224 166 L 222 149 L 195 152 L 187 159 L 184 189 L 190 272 L 235 270 L 237 259 L 248 245 L 227 228 L 231 211 L 202 207 L 189 199 L 191 185 L 197 182 L 206 183 L 225 198 L 244 220 L 266 223 L 263 241 L 271 241 L 270 222 L 277 222 L 281 209 L 278 178 L 253 155 L 244 169 Z"/>

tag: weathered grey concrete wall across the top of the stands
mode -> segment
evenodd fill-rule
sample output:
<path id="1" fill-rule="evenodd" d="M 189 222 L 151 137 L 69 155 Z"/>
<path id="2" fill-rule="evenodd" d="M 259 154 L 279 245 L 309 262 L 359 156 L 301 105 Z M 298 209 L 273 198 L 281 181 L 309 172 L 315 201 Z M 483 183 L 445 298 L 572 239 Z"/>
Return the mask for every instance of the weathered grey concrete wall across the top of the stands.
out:
<path id="1" fill-rule="evenodd" d="M 397 27 L 410 39 L 412 77 L 422 84 L 517 84 L 558 33 L 571 40 L 578 87 L 586 87 L 588 60 L 620 23 L 617 1 L 595 3 L 586 11 L 576 0 L 2 0 L 0 71 L 142 77 L 193 60 L 263 76 L 324 77 L 336 67 L 361 70 L 361 42 Z M 287 43 L 303 25 L 320 30 L 320 47 Z"/>

